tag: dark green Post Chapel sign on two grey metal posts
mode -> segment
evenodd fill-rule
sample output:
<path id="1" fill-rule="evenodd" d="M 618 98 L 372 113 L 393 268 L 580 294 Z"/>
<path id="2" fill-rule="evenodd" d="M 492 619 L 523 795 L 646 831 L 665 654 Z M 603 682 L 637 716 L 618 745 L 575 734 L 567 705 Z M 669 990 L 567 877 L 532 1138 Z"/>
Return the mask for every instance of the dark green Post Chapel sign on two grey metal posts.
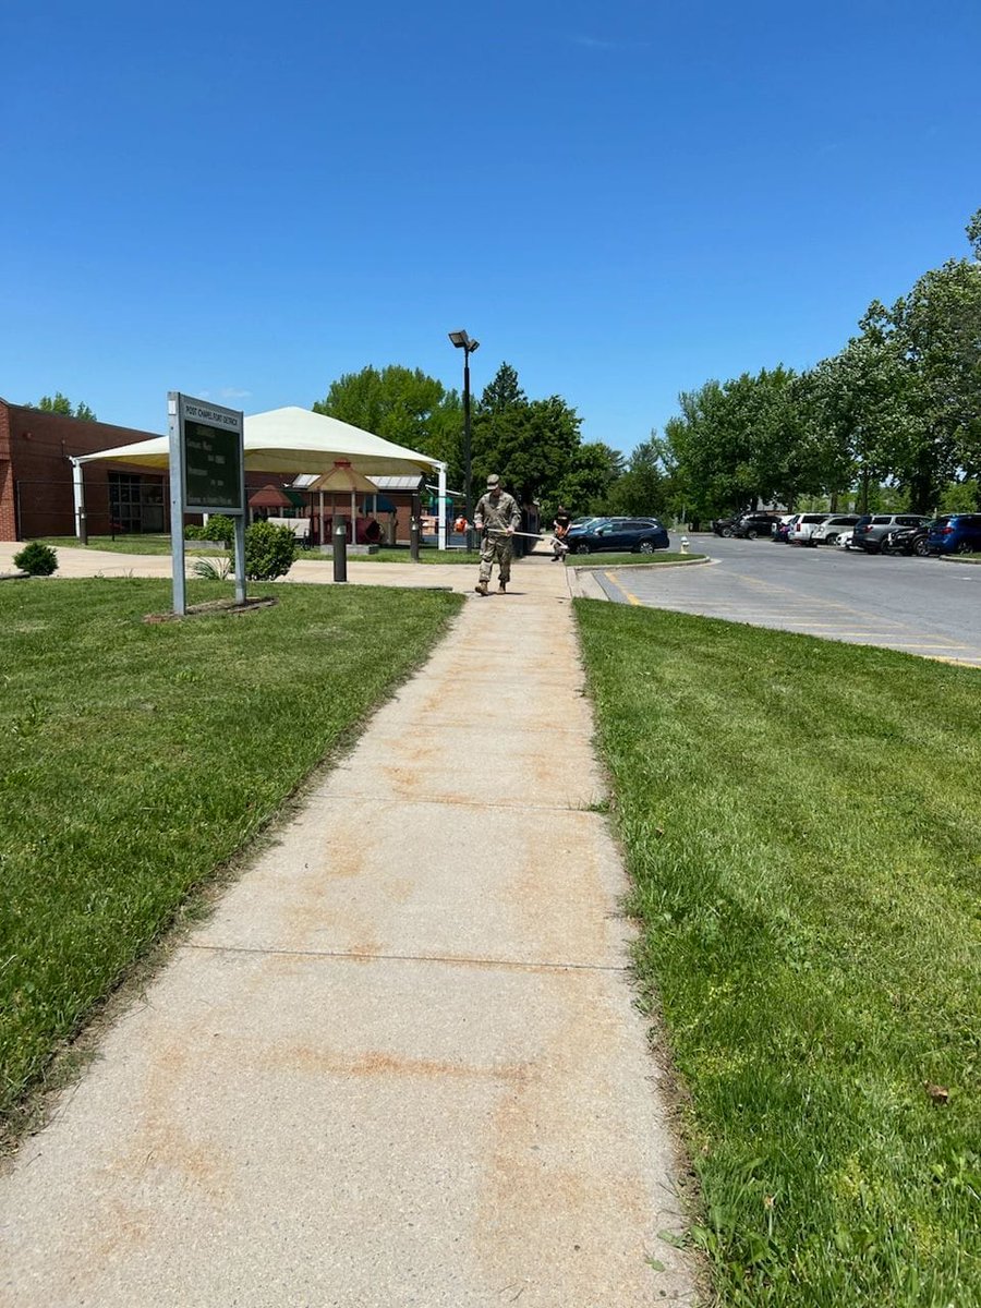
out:
<path id="1" fill-rule="evenodd" d="M 187 612 L 184 513 L 224 513 L 235 523 L 235 600 L 245 603 L 245 415 L 167 392 L 170 545 L 174 612 Z"/>

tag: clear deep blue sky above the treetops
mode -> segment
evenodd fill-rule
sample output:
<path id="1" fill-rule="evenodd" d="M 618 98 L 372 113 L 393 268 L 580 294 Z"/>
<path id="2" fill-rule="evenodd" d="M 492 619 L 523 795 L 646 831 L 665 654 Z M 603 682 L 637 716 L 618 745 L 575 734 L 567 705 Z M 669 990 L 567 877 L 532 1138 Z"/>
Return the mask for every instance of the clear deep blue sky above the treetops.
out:
<path id="1" fill-rule="evenodd" d="M 481 341 L 629 451 L 968 255 L 977 0 L 7 0 L 0 395 L 162 432 Z"/>

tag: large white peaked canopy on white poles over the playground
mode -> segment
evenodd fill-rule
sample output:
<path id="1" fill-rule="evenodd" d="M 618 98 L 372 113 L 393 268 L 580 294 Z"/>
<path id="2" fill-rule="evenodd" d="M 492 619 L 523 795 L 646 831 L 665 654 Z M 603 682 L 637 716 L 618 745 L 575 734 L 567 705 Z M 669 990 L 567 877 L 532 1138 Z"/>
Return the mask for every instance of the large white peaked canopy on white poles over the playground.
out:
<path id="1" fill-rule="evenodd" d="M 439 489 L 439 549 L 446 548 L 446 464 L 428 454 L 385 441 L 371 432 L 341 422 L 324 413 L 289 405 L 252 413 L 245 420 L 246 471 L 262 472 L 330 472 L 339 460 L 365 476 L 405 476 L 436 468 Z M 102 463 L 110 467 L 139 467 L 166 471 L 170 466 L 170 439 L 166 436 L 114 450 L 99 450 L 72 459 L 75 468 L 76 525 L 84 515 L 82 466 Z M 78 527 L 76 530 L 80 530 Z"/>

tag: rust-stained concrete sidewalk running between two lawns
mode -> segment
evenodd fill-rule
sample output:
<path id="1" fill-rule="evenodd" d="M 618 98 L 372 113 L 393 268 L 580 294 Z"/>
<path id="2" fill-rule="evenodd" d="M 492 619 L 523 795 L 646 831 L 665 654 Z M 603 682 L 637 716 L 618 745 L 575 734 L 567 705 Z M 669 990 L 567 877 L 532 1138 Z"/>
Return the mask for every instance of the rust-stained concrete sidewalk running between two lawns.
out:
<path id="1" fill-rule="evenodd" d="M 696 1301 L 565 570 L 513 591 L 471 598 L 0 1176 L 4 1308 Z"/>

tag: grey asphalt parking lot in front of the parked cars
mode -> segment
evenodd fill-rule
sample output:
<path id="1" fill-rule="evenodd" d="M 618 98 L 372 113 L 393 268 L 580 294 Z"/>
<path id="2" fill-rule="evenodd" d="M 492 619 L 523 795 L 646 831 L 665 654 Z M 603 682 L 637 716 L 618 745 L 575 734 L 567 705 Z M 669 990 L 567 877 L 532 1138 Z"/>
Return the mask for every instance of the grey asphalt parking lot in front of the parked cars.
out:
<path id="1" fill-rule="evenodd" d="M 981 566 L 692 538 L 713 566 L 598 570 L 608 599 L 981 667 Z"/>

